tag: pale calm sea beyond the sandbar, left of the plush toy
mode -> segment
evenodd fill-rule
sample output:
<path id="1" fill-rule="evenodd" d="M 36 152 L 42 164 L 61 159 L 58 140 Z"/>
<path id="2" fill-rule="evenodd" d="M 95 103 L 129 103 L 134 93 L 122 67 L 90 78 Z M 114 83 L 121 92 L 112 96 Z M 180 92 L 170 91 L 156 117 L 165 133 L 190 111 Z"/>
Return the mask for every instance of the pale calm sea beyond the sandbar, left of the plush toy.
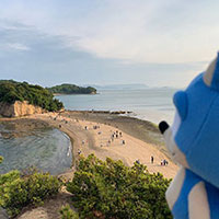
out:
<path id="1" fill-rule="evenodd" d="M 100 90 L 96 95 L 59 95 L 67 110 L 131 111 L 130 116 L 158 124 L 173 120 L 175 89 Z"/>

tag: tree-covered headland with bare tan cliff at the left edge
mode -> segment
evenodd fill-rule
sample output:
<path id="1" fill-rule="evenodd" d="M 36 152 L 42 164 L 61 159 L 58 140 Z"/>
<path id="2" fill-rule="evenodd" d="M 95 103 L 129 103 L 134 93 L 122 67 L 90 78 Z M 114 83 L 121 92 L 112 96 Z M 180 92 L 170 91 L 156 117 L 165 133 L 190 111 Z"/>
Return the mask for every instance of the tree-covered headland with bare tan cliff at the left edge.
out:
<path id="1" fill-rule="evenodd" d="M 0 80 L 0 115 L 15 117 L 44 112 L 58 112 L 64 104 L 39 85 Z"/>

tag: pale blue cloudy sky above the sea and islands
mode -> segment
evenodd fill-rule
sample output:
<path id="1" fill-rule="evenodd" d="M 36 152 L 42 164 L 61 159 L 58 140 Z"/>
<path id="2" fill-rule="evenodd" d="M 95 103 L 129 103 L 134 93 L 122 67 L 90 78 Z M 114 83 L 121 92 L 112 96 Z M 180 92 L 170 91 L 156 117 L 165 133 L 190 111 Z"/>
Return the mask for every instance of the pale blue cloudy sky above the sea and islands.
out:
<path id="1" fill-rule="evenodd" d="M 185 87 L 219 48 L 217 0 L 1 0 L 0 79 Z"/>

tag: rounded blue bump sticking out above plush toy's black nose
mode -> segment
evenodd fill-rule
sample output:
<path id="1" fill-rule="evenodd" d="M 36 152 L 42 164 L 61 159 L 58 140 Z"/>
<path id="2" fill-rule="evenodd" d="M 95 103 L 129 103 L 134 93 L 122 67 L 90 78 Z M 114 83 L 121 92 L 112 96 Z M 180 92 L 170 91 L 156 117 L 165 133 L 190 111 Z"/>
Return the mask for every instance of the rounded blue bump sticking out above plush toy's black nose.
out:
<path id="1" fill-rule="evenodd" d="M 177 91 L 173 96 L 173 103 L 180 114 L 182 120 L 185 120 L 187 115 L 187 94 L 184 91 Z"/>

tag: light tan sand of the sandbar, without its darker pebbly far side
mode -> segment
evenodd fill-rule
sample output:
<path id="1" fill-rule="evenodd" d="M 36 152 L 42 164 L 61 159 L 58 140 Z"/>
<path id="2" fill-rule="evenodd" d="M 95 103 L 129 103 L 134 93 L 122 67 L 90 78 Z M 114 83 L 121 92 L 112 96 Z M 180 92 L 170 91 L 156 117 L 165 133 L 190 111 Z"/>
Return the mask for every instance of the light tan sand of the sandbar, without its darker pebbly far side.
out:
<path id="1" fill-rule="evenodd" d="M 105 117 L 107 117 L 107 115 Z M 76 112 L 61 114 L 47 113 L 32 115 L 27 118 L 46 122 L 50 126 L 59 128 L 70 137 L 73 146 L 73 165 L 79 154 L 88 157 L 89 154 L 94 153 L 102 160 L 105 160 L 107 157 L 114 160 L 123 160 L 123 162 L 128 166 L 132 165 L 134 162 L 138 160 L 140 163 L 148 166 L 149 172 L 160 172 L 168 178 L 174 177 L 177 171 L 177 165 L 173 163 L 165 153 L 163 153 L 163 146 L 160 146 L 159 149 L 157 142 L 158 139 L 157 141 L 154 140 L 155 143 L 149 143 L 149 142 L 147 142 L 146 139 L 141 140 L 136 138 L 127 134 L 124 130 L 125 128 L 118 127 L 118 124 L 115 125 L 112 122 L 112 125 L 106 123 L 103 124 L 97 119 L 94 122 L 94 118 L 89 119 L 88 115 L 84 116 L 83 113 L 80 114 Z M 130 129 L 132 124 L 126 124 L 126 126 L 129 126 Z M 126 127 L 126 129 L 128 127 Z M 154 158 L 153 163 L 151 163 L 151 155 Z M 161 161 L 164 159 L 169 162 L 165 166 L 161 165 Z M 73 168 L 72 170 L 67 171 L 64 175 L 66 177 L 71 177 L 72 173 Z"/>

